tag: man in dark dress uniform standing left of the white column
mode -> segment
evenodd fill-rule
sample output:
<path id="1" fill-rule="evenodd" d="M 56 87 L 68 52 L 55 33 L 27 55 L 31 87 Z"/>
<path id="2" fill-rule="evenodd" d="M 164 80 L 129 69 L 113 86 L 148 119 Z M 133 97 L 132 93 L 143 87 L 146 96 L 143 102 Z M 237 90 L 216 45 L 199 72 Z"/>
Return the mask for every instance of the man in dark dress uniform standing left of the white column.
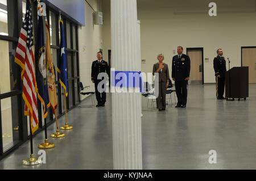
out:
<path id="1" fill-rule="evenodd" d="M 109 77 L 109 71 L 110 70 L 109 70 L 108 62 L 102 60 L 101 52 L 97 52 L 97 60 L 92 62 L 92 82 L 94 83 L 96 99 L 98 102 L 96 107 L 105 106 L 105 102 L 106 102 L 106 92 L 105 92 L 106 87 L 102 87 L 104 89 L 104 91 L 102 92 L 100 92 L 97 89 L 98 83 L 102 81 L 101 79 L 97 79 L 98 74 L 102 72 L 107 73 Z"/>

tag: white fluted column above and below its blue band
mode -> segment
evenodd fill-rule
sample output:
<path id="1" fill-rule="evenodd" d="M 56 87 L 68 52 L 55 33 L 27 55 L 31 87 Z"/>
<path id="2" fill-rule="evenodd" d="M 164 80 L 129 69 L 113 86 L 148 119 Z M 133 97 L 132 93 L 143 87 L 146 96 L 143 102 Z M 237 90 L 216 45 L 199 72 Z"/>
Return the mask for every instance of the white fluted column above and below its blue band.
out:
<path id="1" fill-rule="evenodd" d="M 140 71 L 137 0 L 111 0 L 111 35 L 112 68 Z M 142 169 L 141 93 L 112 93 L 112 116 L 114 169 Z"/>

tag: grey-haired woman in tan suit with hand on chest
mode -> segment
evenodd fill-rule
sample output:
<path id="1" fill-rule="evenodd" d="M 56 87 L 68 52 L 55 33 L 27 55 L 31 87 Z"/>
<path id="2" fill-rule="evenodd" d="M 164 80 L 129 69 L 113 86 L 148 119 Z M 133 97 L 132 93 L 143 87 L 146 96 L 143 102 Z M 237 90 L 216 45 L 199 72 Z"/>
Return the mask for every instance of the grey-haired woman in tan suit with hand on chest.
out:
<path id="1" fill-rule="evenodd" d="M 159 75 L 159 94 L 156 98 L 156 107 L 159 111 L 166 110 L 166 89 L 169 85 L 169 69 L 168 65 L 163 62 L 164 55 L 161 53 L 158 55 L 158 62 L 153 66 L 153 75 L 158 73 Z"/>

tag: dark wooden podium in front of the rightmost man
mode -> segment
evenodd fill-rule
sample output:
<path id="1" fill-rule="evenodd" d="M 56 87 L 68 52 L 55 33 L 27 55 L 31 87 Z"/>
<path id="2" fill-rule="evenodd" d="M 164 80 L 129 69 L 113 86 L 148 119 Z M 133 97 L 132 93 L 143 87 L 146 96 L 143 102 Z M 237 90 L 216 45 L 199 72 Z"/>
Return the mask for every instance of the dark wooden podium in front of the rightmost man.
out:
<path id="1" fill-rule="evenodd" d="M 226 98 L 246 99 L 249 97 L 249 67 L 234 67 L 226 72 Z"/>

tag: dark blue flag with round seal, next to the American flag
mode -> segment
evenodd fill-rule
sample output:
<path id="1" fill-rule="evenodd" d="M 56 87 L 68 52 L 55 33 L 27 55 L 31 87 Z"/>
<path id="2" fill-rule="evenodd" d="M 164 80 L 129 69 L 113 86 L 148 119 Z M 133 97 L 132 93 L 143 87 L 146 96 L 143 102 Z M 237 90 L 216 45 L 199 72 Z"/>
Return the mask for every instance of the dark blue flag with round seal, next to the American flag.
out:
<path id="1" fill-rule="evenodd" d="M 36 36 L 35 67 L 36 67 L 36 92 L 38 99 L 43 104 L 43 115 L 47 117 L 49 104 L 48 81 L 46 76 L 46 54 L 44 52 L 43 19 L 39 16 L 38 31 Z"/>

